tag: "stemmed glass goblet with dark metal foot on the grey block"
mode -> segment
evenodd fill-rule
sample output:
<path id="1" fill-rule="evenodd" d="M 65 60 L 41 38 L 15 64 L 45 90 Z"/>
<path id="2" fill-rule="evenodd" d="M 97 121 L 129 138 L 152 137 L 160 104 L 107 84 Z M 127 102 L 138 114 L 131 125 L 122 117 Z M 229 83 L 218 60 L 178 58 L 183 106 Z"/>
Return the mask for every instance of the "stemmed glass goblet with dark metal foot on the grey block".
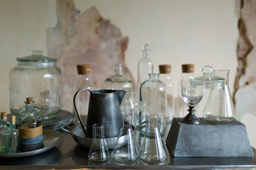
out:
<path id="1" fill-rule="evenodd" d="M 199 119 L 196 118 L 194 112 L 195 106 L 201 101 L 204 96 L 205 81 L 198 81 L 194 78 L 189 80 L 181 80 L 181 94 L 184 103 L 189 106 L 189 113 L 181 119 L 181 122 L 186 124 L 199 124 Z"/>

